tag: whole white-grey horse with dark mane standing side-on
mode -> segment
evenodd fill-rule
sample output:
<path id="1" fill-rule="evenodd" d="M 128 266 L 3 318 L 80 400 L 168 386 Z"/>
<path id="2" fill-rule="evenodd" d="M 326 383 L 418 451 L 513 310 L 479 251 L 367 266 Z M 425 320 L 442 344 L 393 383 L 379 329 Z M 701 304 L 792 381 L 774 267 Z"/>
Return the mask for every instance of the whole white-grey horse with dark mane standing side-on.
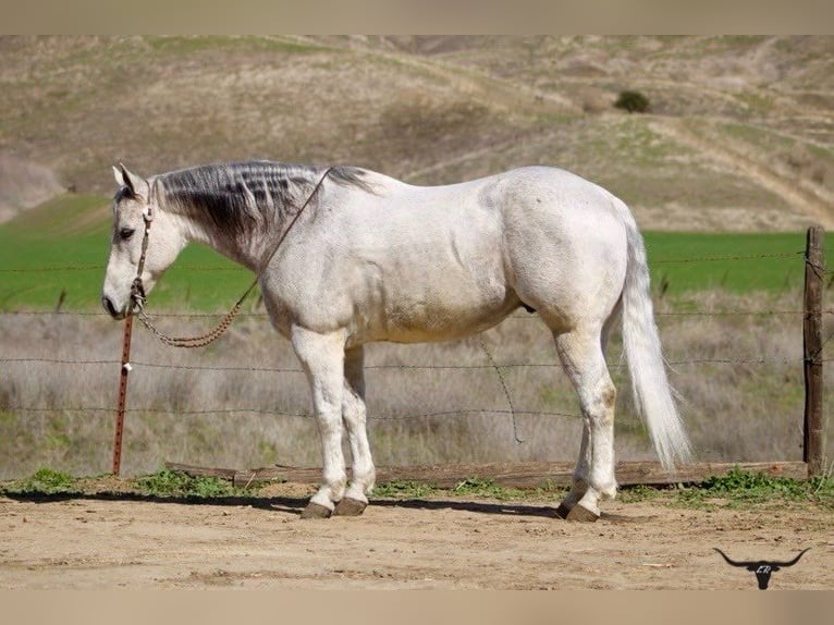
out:
<path id="1" fill-rule="evenodd" d="M 121 163 L 113 172 L 119 189 L 101 302 L 114 319 L 134 312 L 136 283 L 144 298 L 189 242 L 256 273 L 271 324 L 306 373 L 320 434 L 322 480 L 304 518 L 359 515 L 368 504 L 376 471 L 366 343 L 462 339 L 522 307 L 551 331 L 581 406 L 579 456 L 559 516 L 596 520 L 600 502 L 616 495 L 616 389 L 605 347 L 617 321 L 655 453 L 670 471 L 690 458 L 642 236 L 621 199 L 579 175 L 524 167 L 416 186 L 357 167 L 272 161 L 147 179 Z"/>

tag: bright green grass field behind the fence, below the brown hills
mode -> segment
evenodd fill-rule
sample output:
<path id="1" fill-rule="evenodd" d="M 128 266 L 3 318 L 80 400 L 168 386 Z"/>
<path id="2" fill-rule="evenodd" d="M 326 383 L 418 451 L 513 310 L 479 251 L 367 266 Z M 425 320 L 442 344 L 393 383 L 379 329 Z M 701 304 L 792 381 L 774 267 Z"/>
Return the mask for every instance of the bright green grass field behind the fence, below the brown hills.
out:
<path id="1" fill-rule="evenodd" d="M 0 310 L 98 310 L 109 249 L 109 201 L 64 195 L 0 225 Z M 655 290 L 782 293 L 801 287 L 805 233 L 645 233 Z M 834 260 L 829 247 L 829 266 Z M 213 250 L 185 249 L 151 294 L 155 307 L 230 307 L 252 273 Z"/>

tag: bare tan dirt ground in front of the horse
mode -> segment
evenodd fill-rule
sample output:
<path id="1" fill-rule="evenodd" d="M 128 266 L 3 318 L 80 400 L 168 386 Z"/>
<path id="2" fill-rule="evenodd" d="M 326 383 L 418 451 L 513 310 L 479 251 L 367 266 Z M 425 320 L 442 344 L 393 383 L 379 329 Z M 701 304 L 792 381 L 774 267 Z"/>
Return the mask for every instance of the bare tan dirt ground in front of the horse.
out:
<path id="1" fill-rule="evenodd" d="M 372 500 L 358 518 L 301 520 L 307 495 L 0 498 L 0 588 L 756 589 L 718 547 L 781 561 L 811 548 L 770 588 L 834 589 L 834 515 L 810 503 L 707 512 L 661 497 L 577 524 L 544 500 Z"/>

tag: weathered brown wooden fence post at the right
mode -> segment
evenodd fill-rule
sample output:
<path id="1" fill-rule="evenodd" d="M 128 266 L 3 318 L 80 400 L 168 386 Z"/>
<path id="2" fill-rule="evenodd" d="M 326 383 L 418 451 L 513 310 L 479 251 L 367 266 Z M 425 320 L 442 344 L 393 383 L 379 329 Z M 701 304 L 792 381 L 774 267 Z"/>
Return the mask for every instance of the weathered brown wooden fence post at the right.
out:
<path id="1" fill-rule="evenodd" d="M 825 273 L 823 241 L 819 225 L 808 229 L 805 252 L 805 321 L 802 345 L 805 359 L 805 441 L 802 459 L 808 477 L 825 469 L 825 428 L 822 410 L 822 293 Z"/>

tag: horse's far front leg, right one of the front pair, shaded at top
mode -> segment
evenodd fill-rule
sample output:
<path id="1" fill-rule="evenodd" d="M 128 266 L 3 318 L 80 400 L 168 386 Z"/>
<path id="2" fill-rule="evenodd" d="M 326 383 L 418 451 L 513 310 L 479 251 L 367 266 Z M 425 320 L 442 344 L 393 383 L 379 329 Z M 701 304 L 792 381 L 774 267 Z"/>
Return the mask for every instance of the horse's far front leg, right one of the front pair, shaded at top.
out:
<path id="1" fill-rule="evenodd" d="M 342 417 L 347 440 L 351 443 L 351 466 L 353 476 L 342 501 L 336 504 L 335 514 L 356 516 L 368 505 L 367 495 L 373 489 L 376 469 L 368 444 L 366 429 L 367 410 L 365 407 L 365 369 L 361 346 L 345 353 L 344 393 L 342 396 Z"/>

